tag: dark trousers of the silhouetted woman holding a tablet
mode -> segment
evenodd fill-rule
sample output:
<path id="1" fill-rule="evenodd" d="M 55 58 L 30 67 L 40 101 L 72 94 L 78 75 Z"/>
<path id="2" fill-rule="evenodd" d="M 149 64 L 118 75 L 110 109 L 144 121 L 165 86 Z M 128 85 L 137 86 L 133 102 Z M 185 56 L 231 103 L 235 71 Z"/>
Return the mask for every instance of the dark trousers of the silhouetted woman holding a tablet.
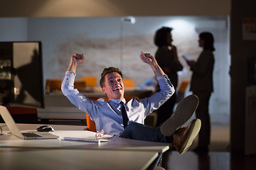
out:
<path id="1" fill-rule="evenodd" d="M 198 108 L 196 109 L 196 118 L 201 120 L 198 147 L 207 147 L 210 144 L 210 115 L 208 106 L 211 92 L 193 91 L 193 94 L 199 98 Z"/>

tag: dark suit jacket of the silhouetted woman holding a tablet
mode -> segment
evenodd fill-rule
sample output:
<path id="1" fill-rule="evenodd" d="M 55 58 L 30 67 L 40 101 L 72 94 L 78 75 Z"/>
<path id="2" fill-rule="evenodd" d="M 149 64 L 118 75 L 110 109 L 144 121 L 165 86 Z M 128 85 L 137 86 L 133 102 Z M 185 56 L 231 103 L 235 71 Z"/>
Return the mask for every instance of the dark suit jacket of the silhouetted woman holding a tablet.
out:
<path id="1" fill-rule="evenodd" d="M 191 91 L 213 91 L 214 56 L 210 50 L 203 50 L 196 64 L 191 66 Z"/>

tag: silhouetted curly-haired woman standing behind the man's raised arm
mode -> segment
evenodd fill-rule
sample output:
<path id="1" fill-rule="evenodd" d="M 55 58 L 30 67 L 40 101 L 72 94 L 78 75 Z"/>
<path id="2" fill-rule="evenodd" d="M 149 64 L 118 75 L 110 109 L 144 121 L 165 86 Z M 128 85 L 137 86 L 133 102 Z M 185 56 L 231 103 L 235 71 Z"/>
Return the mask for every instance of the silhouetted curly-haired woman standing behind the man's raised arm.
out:
<path id="1" fill-rule="evenodd" d="M 156 51 L 155 58 L 161 69 L 164 70 L 176 89 L 178 85 L 177 72 L 181 71 L 183 66 L 178 61 L 176 47 L 171 43 L 173 41 L 171 30 L 173 30 L 173 28 L 169 27 L 162 27 L 159 30 L 156 30 L 154 44 L 158 47 L 158 49 Z M 169 100 L 157 110 L 156 126 L 161 125 L 165 120 L 171 117 L 175 103 L 176 93 L 174 93 L 173 96 L 171 96 L 171 98 L 169 98 Z"/>

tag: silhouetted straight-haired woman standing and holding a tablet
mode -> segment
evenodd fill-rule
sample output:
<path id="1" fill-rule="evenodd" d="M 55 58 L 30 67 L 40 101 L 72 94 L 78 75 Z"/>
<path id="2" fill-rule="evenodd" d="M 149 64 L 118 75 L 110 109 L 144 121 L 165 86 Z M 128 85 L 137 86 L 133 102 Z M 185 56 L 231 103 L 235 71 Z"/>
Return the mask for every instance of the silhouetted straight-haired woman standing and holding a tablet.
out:
<path id="1" fill-rule="evenodd" d="M 202 123 L 198 147 L 194 151 L 208 152 L 208 145 L 210 145 L 210 115 L 208 106 L 210 95 L 213 92 L 213 67 L 215 62 L 213 35 L 208 32 L 201 33 L 198 42 L 199 47 L 203 48 L 203 52 L 201 52 L 196 62 L 193 60 L 187 61 L 193 72 L 190 90 L 199 98 L 196 118 L 201 119 Z"/>

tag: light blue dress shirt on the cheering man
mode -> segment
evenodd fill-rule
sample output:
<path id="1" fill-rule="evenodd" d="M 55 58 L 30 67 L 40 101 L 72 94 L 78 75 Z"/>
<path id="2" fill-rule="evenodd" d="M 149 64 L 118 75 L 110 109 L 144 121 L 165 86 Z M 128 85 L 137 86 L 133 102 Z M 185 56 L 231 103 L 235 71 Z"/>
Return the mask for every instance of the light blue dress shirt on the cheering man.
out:
<path id="1" fill-rule="evenodd" d="M 144 124 L 147 115 L 159 108 L 174 94 L 174 86 L 166 75 L 156 77 L 159 81 L 161 91 L 150 96 L 149 98 L 141 98 L 137 100 L 132 98 L 125 104 L 129 121 Z M 119 135 L 124 130 L 122 121 L 120 100 L 110 99 L 109 102 L 103 98 L 97 101 L 90 100 L 78 89 L 74 89 L 75 73 L 66 72 L 61 85 L 61 90 L 73 105 L 84 111 L 95 122 L 96 130 L 104 130 L 105 134 Z"/>

